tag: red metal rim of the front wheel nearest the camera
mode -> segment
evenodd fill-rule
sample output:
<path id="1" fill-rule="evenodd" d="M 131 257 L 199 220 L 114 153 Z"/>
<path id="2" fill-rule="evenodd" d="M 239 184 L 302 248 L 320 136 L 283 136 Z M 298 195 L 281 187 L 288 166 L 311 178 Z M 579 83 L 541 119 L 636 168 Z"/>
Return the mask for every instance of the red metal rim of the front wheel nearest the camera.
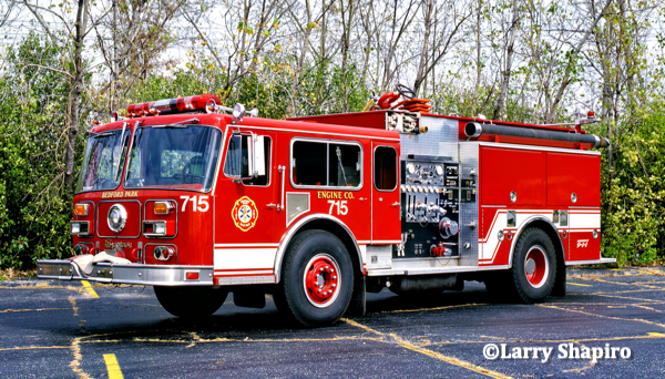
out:
<path id="1" fill-rule="evenodd" d="M 328 254 L 317 254 L 305 267 L 303 285 L 305 295 L 315 307 L 329 306 L 339 294 L 339 266 Z"/>

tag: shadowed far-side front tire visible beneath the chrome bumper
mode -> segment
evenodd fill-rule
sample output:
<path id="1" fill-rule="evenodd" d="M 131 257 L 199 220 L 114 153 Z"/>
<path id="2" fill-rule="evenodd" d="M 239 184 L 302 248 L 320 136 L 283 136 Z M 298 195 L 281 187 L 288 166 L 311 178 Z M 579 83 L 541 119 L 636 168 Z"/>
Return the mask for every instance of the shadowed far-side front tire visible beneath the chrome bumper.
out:
<path id="1" fill-rule="evenodd" d="M 222 288 L 155 286 L 157 300 L 166 311 L 177 317 L 206 317 L 219 309 L 228 296 Z"/>

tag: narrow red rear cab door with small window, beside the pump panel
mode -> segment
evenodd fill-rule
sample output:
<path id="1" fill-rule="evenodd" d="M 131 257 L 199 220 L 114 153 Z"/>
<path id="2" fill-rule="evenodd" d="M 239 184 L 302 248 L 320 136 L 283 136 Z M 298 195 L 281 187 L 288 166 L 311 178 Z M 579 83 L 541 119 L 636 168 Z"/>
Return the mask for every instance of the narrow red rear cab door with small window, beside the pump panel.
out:
<path id="1" fill-rule="evenodd" d="M 399 244 L 399 144 L 375 141 L 371 146 L 371 243 Z"/>

